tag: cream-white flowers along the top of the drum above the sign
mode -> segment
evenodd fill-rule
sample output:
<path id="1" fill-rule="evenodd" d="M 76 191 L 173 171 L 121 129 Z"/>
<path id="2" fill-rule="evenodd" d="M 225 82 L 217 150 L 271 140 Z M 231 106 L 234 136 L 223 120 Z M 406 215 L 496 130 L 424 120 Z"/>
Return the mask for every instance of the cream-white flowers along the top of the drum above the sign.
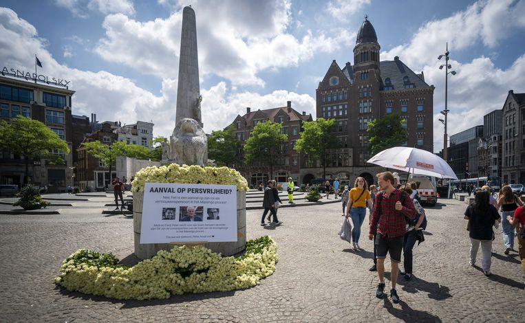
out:
<path id="1" fill-rule="evenodd" d="M 142 168 L 135 175 L 131 191 L 144 192 L 147 182 L 235 185 L 239 191 L 248 190 L 248 182 L 241 173 L 228 167 L 169 164 Z"/>

